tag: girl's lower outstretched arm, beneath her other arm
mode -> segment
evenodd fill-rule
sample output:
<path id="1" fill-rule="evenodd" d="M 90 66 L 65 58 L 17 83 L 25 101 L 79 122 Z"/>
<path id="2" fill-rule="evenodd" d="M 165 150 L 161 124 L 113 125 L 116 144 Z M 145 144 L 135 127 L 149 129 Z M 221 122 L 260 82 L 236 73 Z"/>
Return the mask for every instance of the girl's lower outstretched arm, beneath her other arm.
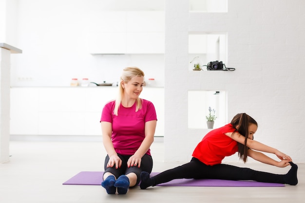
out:
<path id="1" fill-rule="evenodd" d="M 274 159 L 268 157 L 266 154 L 259 152 L 259 151 L 254 151 L 252 149 L 248 149 L 248 156 L 255 159 L 256 161 L 262 162 L 264 164 L 269 164 L 272 166 L 278 166 L 278 167 L 286 167 L 289 166 L 289 162 L 286 159 L 283 159 L 281 161 L 275 161 Z"/>

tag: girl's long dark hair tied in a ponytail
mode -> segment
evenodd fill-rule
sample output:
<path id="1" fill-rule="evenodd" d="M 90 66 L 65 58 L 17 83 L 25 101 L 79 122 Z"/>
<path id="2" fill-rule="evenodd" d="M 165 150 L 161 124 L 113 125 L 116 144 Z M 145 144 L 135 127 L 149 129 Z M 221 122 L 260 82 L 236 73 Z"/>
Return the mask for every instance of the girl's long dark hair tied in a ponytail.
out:
<path id="1" fill-rule="evenodd" d="M 248 126 L 249 124 L 255 124 L 257 126 L 257 122 L 246 113 L 238 113 L 236 114 L 232 121 L 231 125 L 235 128 L 234 132 L 239 132 L 241 135 L 245 137 L 245 143 L 237 143 L 238 146 L 238 156 L 240 159 L 244 161 L 244 163 L 247 162 L 247 156 L 248 156 L 248 147 L 247 147 L 247 139 L 248 139 Z"/>

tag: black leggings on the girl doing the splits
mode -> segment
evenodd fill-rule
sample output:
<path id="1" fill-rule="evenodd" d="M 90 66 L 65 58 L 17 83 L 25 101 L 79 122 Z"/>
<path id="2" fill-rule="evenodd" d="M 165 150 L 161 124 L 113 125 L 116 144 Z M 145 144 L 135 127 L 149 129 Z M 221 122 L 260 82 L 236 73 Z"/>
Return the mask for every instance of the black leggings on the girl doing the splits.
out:
<path id="1" fill-rule="evenodd" d="M 152 177 L 154 182 L 152 186 L 182 178 L 252 180 L 265 183 L 285 183 L 284 175 L 276 175 L 226 164 L 208 166 L 198 159 L 192 158 L 190 163 L 166 170 Z"/>

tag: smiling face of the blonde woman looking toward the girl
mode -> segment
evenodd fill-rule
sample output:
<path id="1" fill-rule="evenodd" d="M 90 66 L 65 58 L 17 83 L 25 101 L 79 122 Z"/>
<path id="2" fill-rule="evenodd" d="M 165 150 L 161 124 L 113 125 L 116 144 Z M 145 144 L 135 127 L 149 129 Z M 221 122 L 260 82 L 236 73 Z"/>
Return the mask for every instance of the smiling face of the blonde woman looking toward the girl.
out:
<path id="1" fill-rule="evenodd" d="M 122 81 L 124 96 L 127 99 L 137 99 L 143 90 L 144 77 L 136 76 L 128 82 Z"/>

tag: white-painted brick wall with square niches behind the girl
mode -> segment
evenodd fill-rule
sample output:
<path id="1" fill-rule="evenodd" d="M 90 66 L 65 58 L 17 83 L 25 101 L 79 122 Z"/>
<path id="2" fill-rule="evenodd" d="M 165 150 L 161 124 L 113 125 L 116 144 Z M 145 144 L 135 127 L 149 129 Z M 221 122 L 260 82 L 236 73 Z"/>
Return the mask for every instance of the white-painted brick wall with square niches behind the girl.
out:
<path id="1" fill-rule="evenodd" d="M 165 161 L 189 161 L 207 132 L 188 129 L 188 90 L 221 89 L 228 122 L 248 113 L 259 124 L 257 141 L 304 163 L 305 1 L 229 0 L 228 13 L 189 13 L 188 0 L 165 2 Z M 226 66 L 236 71 L 189 72 L 191 31 L 227 33 Z"/>

